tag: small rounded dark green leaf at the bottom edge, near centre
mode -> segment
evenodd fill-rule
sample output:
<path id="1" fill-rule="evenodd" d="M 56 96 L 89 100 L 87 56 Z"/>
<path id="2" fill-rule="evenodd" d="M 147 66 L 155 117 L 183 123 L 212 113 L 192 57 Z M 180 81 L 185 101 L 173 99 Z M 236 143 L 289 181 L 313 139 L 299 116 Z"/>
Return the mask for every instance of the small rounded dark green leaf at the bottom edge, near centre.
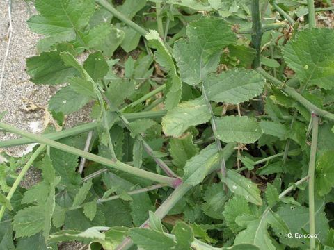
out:
<path id="1" fill-rule="evenodd" d="M 177 222 L 172 233 L 175 234 L 177 240 L 177 249 L 191 249 L 191 242 L 193 242 L 195 238 L 193 237 L 193 229 L 189 225 L 184 222 Z"/>

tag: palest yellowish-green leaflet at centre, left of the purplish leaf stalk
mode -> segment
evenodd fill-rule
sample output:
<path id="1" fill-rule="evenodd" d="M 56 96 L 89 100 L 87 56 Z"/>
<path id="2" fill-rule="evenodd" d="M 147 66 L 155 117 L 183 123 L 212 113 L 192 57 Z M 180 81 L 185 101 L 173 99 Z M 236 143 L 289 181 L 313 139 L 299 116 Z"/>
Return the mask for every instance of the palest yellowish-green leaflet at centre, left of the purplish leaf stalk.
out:
<path id="1" fill-rule="evenodd" d="M 162 118 L 162 129 L 165 135 L 179 137 L 189 126 L 203 124 L 210 118 L 211 115 L 204 99 L 184 101 L 169 110 Z"/>

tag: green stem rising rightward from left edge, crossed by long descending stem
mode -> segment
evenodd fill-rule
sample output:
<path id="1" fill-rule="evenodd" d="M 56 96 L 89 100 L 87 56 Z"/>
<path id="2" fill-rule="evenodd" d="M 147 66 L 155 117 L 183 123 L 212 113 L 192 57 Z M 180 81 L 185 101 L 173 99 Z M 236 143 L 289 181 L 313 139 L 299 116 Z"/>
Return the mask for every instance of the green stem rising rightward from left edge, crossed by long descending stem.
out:
<path id="1" fill-rule="evenodd" d="M 143 118 L 160 118 L 166 115 L 165 110 L 160 110 L 160 111 L 147 111 L 147 112 L 140 112 L 140 113 L 125 113 L 123 114 L 125 118 L 128 121 L 136 120 L 136 119 L 143 119 Z M 118 122 L 120 122 L 120 119 L 118 118 Z M 88 124 L 83 124 L 79 126 L 75 126 L 74 128 L 68 128 L 64 131 L 59 131 L 55 133 L 47 133 L 43 136 L 45 138 L 51 139 L 51 140 L 59 140 L 61 138 L 67 138 L 73 135 L 78 135 L 80 133 L 84 133 L 87 131 L 91 131 L 95 128 L 97 128 L 99 124 L 97 122 L 92 122 Z M 13 140 L 6 140 L 3 142 L 0 142 L 0 148 L 1 147 L 13 147 L 13 146 L 18 146 L 22 144 L 29 144 L 29 143 L 34 143 L 34 140 L 28 139 L 28 138 L 19 138 L 19 139 L 13 139 Z"/>

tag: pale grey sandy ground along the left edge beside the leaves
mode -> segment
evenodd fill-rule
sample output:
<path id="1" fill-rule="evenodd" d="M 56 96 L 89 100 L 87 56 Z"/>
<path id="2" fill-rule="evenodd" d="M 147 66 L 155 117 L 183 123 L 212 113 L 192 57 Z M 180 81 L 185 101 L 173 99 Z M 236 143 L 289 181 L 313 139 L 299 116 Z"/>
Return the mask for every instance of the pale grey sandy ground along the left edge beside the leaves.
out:
<path id="1" fill-rule="evenodd" d="M 24 0 L 12 0 L 13 38 L 10 43 L 10 52 L 6 61 L 5 74 L 0 90 L 0 112 L 6 111 L 1 122 L 13 125 L 25 131 L 40 133 L 44 122 L 45 110 L 36 108 L 29 110 L 29 105 L 46 107 L 47 101 L 58 88 L 48 85 L 35 85 L 29 81 L 26 74 L 26 58 L 35 56 L 35 45 L 39 35 L 29 31 L 26 21 L 30 15 L 36 13 L 33 6 L 27 6 Z M 0 0 L 0 63 L 6 53 L 8 42 L 8 3 Z M 66 127 L 88 120 L 88 112 L 81 110 L 67 117 Z M 17 138 L 10 133 L 0 133 L 0 140 Z M 1 149 L 0 149 L 1 150 Z M 22 156 L 26 147 L 5 149 L 12 156 Z"/>

